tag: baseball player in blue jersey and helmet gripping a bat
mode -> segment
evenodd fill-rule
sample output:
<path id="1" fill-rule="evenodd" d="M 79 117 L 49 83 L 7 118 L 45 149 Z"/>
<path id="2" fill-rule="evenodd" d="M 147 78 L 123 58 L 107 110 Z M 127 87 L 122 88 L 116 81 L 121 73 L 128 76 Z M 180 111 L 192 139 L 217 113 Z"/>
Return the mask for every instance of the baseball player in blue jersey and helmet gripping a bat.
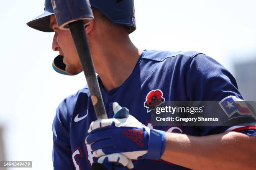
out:
<path id="1" fill-rule="evenodd" d="M 136 30 L 133 0 L 90 4 L 95 20 L 85 31 L 109 119 L 97 120 L 88 87 L 63 100 L 53 122 L 54 169 L 85 170 L 94 162 L 138 170 L 256 168 L 256 126 L 151 122 L 156 102 L 243 100 L 228 70 L 200 52 L 139 50 L 129 39 Z M 72 36 L 59 30 L 50 0 L 27 25 L 55 32 L 52 48 L 60 55 L 54 70 L 82 72 Z"/>

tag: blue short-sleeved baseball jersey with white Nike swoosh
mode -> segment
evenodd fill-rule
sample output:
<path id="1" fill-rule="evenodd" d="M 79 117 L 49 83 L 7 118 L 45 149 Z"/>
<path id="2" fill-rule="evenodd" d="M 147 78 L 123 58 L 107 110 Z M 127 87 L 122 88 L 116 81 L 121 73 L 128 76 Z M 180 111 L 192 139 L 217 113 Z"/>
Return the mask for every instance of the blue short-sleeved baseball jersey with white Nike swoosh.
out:
<path id="1" fill-rule="evenodd" d="M 118 74 L 118 73 L 117 73 Z M 234 96 L 242 99 L 235 78 L 211 57 L 199 52 L 144 50 L 132 74 L 120 87 L 105 91 L 98 77 L 108 117 L 113 102 L 127 107 L 144 125 L 169 133 L 205 136 L 227 130 L 256 135 L 255 126 L 155 126 L 145 106 L 146 96 L 161 92 L 165 101 L 220 101 Z M 87 87 L 67 97 L 56 110 L 53 122 L 53 163 L 55 169 L 89 170 L 97 159 L 84 140 L 92 121 L 97 120 Z M 227 117 L 228 120 L 228 117 Z M 186 169 L 164 160 L 134 160 L 134 169 Z"/>

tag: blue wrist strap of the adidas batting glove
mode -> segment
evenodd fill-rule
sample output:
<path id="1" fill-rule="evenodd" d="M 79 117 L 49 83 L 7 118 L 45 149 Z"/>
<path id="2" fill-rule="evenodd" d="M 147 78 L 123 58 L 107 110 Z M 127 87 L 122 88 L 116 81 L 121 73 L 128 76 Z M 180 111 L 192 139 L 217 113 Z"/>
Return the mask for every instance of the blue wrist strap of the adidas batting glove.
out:
<path id="1" fill-rule="evenodd" d="M 145 158 L 160 159 L 165 150 L 165 132 L 151 129 L 148 141 L 148 153 Z"/>

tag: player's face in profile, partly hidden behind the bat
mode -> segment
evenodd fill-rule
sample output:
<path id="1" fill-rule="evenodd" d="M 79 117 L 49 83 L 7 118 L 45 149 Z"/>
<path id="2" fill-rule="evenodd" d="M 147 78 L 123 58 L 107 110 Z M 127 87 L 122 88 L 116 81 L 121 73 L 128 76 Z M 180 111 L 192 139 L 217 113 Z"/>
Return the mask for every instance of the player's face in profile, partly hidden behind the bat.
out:
<path id="1" fill-rule="evenodd" d="M 77 75 L 82 72 L 76 47 L 74 45 L 72 35 L 69 30 L 59 30 L 54 15 L 51 15 L 50 27 L 54 29 L 54 38 L 52 49 L 59 51 L 59 54 L 64 56 L 63 62 L 66 64 L 66 72 L 69 75 Z"/>

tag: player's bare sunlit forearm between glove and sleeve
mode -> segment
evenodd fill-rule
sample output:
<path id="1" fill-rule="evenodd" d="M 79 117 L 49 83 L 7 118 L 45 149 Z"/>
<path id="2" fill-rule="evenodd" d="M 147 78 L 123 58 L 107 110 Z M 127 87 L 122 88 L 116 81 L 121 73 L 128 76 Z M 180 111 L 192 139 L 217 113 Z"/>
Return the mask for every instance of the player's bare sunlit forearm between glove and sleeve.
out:
<path id="1" fill-rule="evenodd" d="M 166 133 L 162 160 L 192 169 L 256 169 L 256 137 L 229 132 L 203 137 Z"/>

